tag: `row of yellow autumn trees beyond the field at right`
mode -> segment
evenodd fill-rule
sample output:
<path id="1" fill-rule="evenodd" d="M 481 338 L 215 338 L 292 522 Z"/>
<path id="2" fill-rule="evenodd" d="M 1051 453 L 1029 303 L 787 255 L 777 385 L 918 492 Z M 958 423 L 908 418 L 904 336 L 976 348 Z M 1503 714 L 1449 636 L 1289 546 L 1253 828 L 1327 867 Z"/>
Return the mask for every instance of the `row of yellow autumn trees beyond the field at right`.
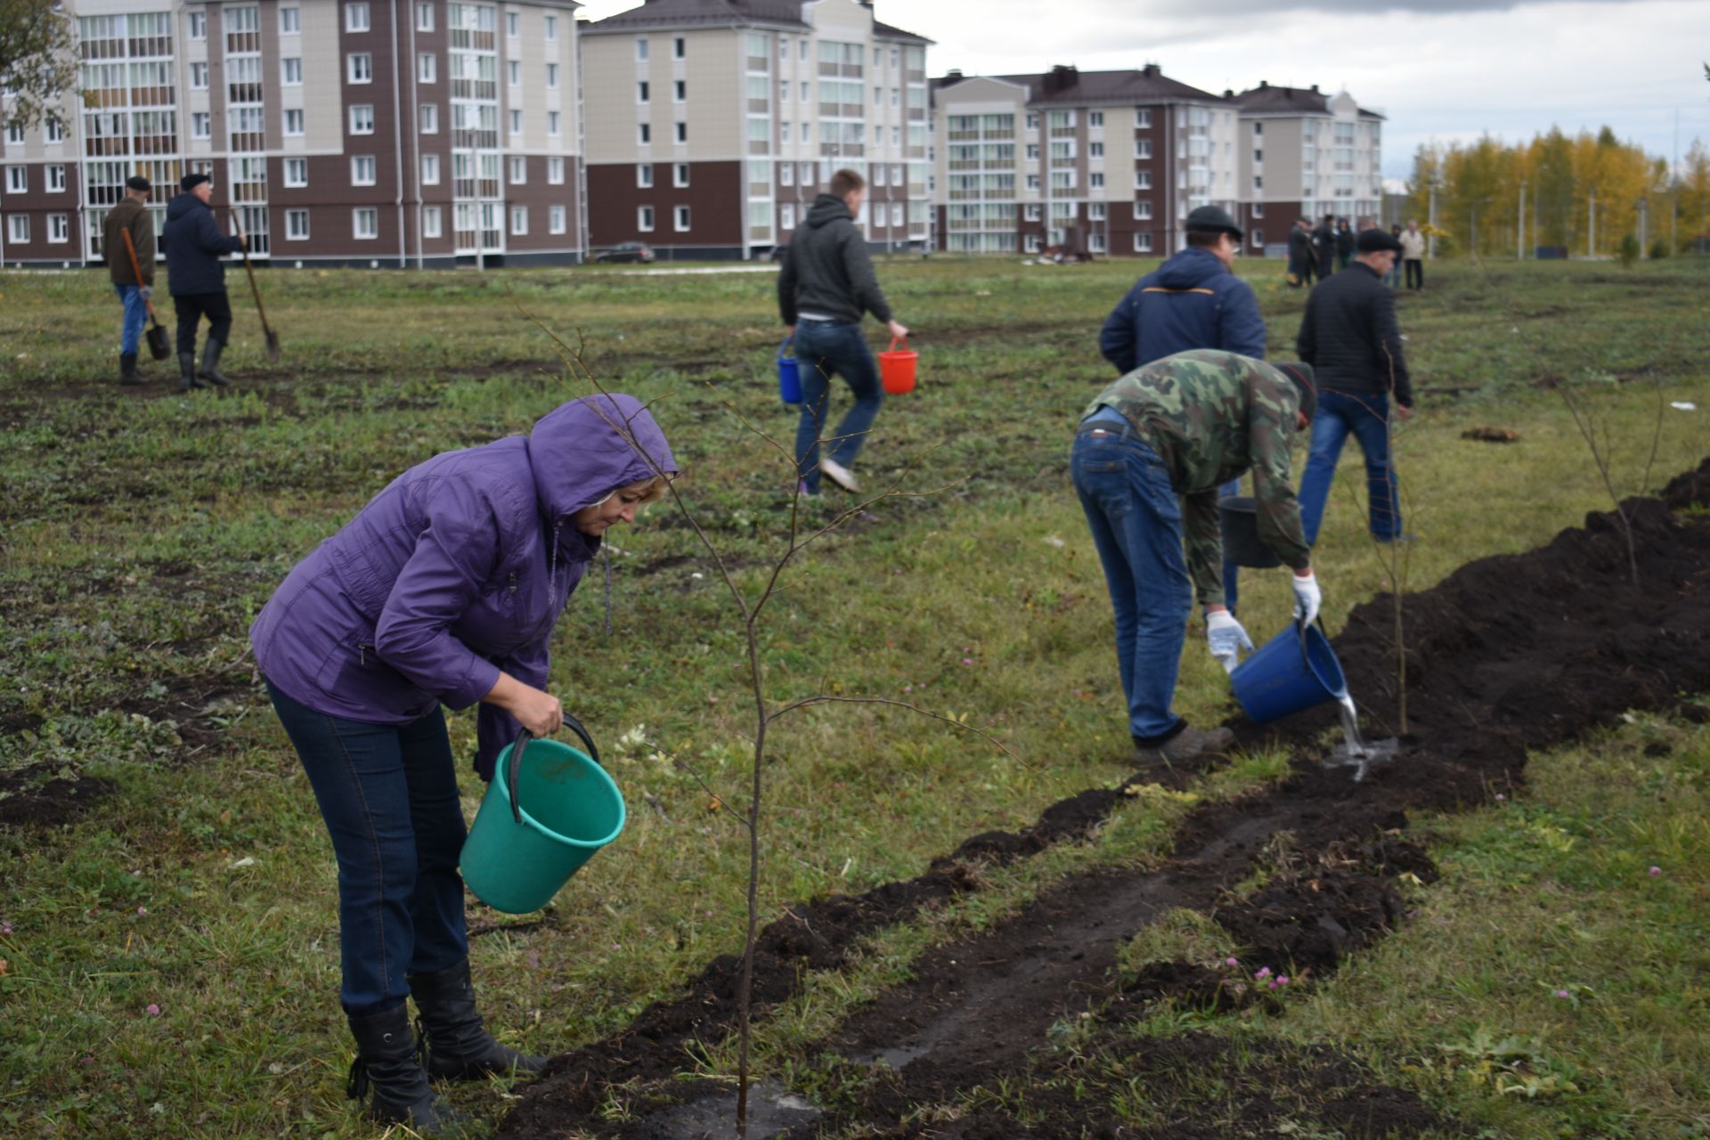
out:
<path id="1" fill-rule="evenodd" d="M 1710 236 L 1710 150 L 1701 140 L 1674 171 L 1607 126 L 1577 137 L 1551 128 L 1522 144 L 1486 135 L 1426 145 L 1409 185 L 1409 209 L 1421 222 L 1431 215 L 1433 188 L 1438 255 L 1513 256 L 1524 248 L 1532 256 L 1536 246 L 1560 246 L 1585 256 L 1624 246 L 1664 256 Z"/>

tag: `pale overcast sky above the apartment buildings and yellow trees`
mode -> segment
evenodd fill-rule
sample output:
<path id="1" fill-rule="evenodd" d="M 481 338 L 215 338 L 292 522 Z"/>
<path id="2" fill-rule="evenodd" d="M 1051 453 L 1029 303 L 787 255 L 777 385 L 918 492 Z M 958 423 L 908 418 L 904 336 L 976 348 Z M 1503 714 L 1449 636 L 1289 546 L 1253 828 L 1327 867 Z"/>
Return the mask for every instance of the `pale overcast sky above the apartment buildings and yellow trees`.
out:
<path id="1" fill-rule="evenodd" d="M 587 19 L 638 7 L 590 0 Z M 1113 70 L 1147 62 L 1204 91 L 1346 87 L 1389 116 L 1383 173 L 1421 142 L 1609 125 L 1672 157 L 1710 145 L 1710 0 L 877 0 L 937 41 L 934 75 Z"/>

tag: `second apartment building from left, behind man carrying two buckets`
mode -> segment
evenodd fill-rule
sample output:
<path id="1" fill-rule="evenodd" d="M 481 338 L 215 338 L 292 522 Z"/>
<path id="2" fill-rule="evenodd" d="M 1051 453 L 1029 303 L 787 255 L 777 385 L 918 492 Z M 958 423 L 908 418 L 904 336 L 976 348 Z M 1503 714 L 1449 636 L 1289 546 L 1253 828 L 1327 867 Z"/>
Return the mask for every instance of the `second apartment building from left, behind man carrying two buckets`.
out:
<path id="1" fill-rule="evenodd" d="M 925 248 L 929 46 L 858 0 L 648 0 L 583 24 L 593 248 L 763 255 L 838 167 L 867 178 L 870 243 Z"/>

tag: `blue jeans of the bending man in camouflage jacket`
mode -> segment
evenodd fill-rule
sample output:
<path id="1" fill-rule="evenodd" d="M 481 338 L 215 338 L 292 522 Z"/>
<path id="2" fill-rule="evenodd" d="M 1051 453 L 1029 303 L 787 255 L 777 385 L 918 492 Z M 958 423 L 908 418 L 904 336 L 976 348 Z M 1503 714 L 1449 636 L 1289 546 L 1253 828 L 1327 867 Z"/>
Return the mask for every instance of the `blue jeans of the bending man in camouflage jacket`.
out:
<path id="1" fill-rule="evenodd" d="M 1170 702 L 1194 605 L 1182 501 L 1158 453 L 1123 424 L 1082 424 L 1069 467 L 1117 612 L 1129 735 L 1141 745 L 1161 743 L 1182 730 Z"/>

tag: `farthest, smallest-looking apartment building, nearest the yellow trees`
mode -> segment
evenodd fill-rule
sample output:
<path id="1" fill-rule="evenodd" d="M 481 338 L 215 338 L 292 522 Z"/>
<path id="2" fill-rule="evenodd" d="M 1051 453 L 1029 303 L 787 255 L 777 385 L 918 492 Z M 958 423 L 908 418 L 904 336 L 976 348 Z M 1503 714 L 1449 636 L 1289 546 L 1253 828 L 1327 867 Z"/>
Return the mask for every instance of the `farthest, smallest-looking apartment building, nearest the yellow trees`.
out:
<path id="1" fill-rule="evenodd" d="M 1241 94 L 1240 198 L 1248 246 L 1279 246 L 1296 217 L 1325 214 L 1351 222 L 1377 219 L 1383 205 L 1383 116 L 1361 109 L 1346 91 L 1325 96 L 1313 84 Z"/>

